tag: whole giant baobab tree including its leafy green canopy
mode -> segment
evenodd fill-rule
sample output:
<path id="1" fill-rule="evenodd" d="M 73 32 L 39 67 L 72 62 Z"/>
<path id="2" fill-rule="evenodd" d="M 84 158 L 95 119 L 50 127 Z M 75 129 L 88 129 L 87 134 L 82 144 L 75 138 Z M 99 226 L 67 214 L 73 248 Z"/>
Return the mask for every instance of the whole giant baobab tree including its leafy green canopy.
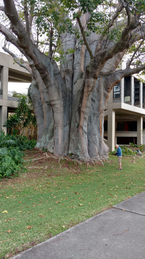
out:
<path id="1" fill-rule="evenodd" d="M 144 1 L 3 0 L 0 11 L 3 49 L 32 75 L 36 147 L 83 161 L 106 159 L 111 89 L 145 69 Z M 126 69 L 116 71 L 125 55 Z"/>

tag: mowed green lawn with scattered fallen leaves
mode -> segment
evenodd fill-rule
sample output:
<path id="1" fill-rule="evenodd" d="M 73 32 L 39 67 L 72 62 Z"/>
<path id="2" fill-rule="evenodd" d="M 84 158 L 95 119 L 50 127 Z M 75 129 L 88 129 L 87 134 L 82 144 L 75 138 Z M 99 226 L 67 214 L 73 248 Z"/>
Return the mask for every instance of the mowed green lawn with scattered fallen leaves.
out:
<path id="1" fill-rule="evenodd" d="M 41 157 L 29 151 L 29 159 Z M 25 158 L 27 158 L 25 157 Z M 144 191 L 145 158 L 109 155 L 104 166 L 42 159 L 0 182 L 0 258 L 9 258 Z M 42 168 L 43 167 L 43 168 Z M 47 168 L 45 168 L 47 167 Z M 2 213 L 7 210 L 7 213 Z"/>

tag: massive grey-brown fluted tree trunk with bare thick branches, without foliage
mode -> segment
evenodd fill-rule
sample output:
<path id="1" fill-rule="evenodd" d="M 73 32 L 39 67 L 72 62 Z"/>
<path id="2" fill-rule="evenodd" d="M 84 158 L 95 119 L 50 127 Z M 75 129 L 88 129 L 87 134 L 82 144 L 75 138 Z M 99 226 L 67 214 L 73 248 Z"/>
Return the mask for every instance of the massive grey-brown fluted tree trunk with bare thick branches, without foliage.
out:
<path id="1" fill-rule="evenodd" d="M 108 147 L 103 141 L 104 107 L 116 83 L 124 76 L 145 68 L 142 65 L 115 71 L 126 49 L 145 37 L 145 25 L 140 27 L 138 19 L 135 16 L 131 18 L 128 7 L 121 4 L 99 35 L 93 32 L 90 36 L 86 33 L 86 36 L 90 14 L 81 12 L 81 16 L 76 16 L 75 28 L 80 30 L 82 38 L 77 39 L 75 30 L 74 34 L 67 30 L 61 32 L 58 41 L 61 39 L 64 57 L 58 66 L 52 58 L 53 31 L 49 34 L 46 56 L 33 38 L 31 13 L 29 17 L 25 14 L 25 24 L 18 16 L 14 1 L 3 2 L 5 6 L 0 6 L 0 10 L 9 18 L 12 32 L 3 24 L 0 24 L 0 32 L 26 56 L 32 71 L 33 81 L 28 93 L 37 121 L 36 147 L 57 156 L 71 153 L 83 161 L 107 159 Z M 113 29 L 113 23 L 123 8 L 128 17 L 126 23 L 122 21 L 124 29 L 118 38 L 110 40 L 106 32 Z"/>

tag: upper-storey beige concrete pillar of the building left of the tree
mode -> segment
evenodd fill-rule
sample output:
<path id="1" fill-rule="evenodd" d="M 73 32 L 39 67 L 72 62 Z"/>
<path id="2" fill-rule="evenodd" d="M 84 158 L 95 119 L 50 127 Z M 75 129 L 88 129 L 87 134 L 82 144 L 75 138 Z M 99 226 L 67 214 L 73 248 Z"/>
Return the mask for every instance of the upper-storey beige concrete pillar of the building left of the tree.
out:
<path id="1" fill-rule="evenodd" d="M 7 100 L 8 73 L 9 73 L 9 68 L 6 66 L 2 66 L 1 67 L 1 90 L 3 90 L 3 100 Z"/>

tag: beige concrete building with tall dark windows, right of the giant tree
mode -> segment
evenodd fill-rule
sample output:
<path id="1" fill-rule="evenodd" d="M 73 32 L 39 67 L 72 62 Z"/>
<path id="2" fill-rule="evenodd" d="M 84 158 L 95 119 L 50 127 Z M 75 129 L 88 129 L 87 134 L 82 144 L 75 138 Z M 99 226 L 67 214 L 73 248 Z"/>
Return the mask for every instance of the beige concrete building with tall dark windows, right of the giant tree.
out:
<path id="1" fill-rule="evenodd" d="M 125 69 L 124 63 L 118 69 Z M 104 138 L 109 151 L 115 144 L 145 144 L 145 83 L 124 77 L 110 93 L 104 111 Z"/>

